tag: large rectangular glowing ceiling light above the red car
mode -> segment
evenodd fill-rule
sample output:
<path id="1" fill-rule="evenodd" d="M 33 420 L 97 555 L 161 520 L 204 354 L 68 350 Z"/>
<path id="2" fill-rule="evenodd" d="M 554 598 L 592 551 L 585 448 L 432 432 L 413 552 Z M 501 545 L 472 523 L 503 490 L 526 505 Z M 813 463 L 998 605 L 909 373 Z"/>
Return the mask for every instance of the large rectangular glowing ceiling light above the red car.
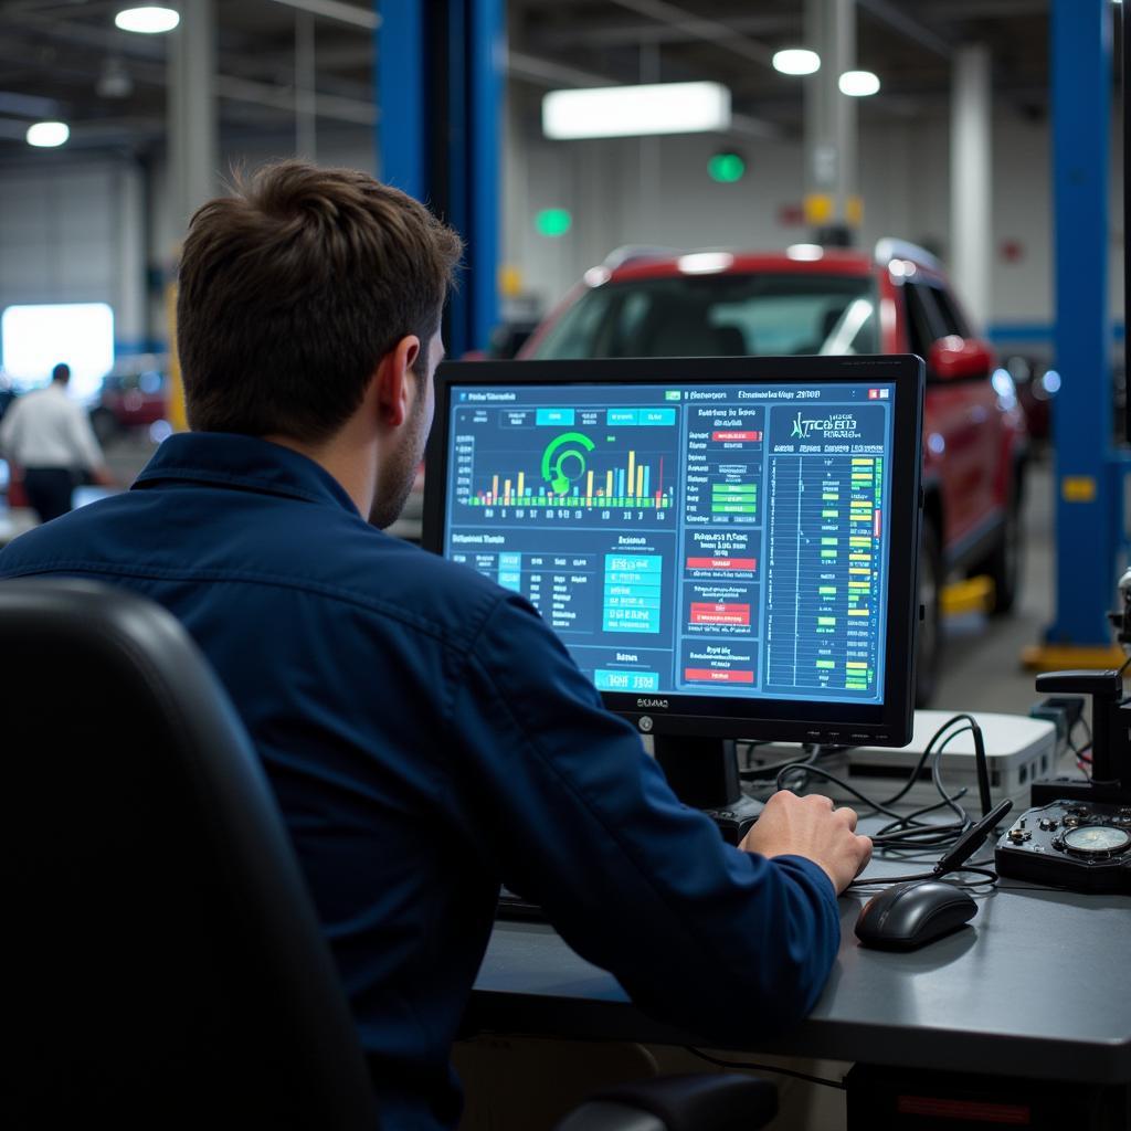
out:
<path id="1" fill-rule="evenodd" d="M 729 126 L 731 92 L 719 83 L 551 90 L 542 100 L 542 132 L 559 141 L 705 133 Z"/>

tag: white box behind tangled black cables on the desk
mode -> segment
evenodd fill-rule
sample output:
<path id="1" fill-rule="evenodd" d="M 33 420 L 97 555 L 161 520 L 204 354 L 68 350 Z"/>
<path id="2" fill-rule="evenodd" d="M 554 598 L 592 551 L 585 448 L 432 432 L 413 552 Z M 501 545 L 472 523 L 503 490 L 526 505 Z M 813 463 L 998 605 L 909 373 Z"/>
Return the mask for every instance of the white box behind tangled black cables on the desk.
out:
<path id="1" fill-rule="evenodd" d="M 1015 808 L 1027 809 L 1029 785 L 1039 778 L 1050 777 L 1056 769 L 1056 727 L 1047 719 L 1028 718 L 1025 715 L 996 715 L 986 711 L 969 714 L 977 720 L 985 740 L 990 792 L 994 803 L 1009 797 Z M 848 782 L 861 793 L 877 800 L 891 796 L 907 780 L 907 775 L 939 727 L 953 715 L 953 711 L 947 710 L 917 710 L 908 745 L 895 750 L 886 746 L 856 746 L 847 751 L 845 759 Z M 952 729 L 962 725 L 956 723 Z M 901 800 L 900 806 L 908 802 L 912 805 L 929 805 L 940 800 L 931 780 L 931 758 L 926 760 L 920 780 Z M 939 772 L 949 794 L 966 786 L 961 804 L 972 812 L 977 811 L 978 779 L 973 734 L 960 734 L 947 744 Z"/>

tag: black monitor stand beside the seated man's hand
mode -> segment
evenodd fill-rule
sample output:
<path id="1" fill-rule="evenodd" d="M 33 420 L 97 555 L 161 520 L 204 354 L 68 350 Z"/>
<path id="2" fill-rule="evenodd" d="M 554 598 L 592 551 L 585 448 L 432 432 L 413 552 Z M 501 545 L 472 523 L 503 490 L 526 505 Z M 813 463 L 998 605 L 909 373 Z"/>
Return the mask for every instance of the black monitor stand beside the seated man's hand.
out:
<path id="1" fill-rule="evenodd" d="M 653 743 L 656 761 L 676 797 L 703 810 L 724 840 L 740 844 L 758 820 L 762 803 L 746 797 L 739 785 L 734 739 L 657 734 Z"/>

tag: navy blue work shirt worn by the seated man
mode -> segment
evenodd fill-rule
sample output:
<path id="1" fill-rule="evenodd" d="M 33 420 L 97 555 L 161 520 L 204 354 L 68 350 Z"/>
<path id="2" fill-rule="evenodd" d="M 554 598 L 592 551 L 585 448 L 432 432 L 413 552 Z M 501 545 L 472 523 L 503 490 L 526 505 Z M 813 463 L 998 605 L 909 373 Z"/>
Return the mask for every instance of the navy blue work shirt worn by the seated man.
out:
<path id="1" fill-rule="evenodd" d="M 132 490 L 0 552 L 171 610 L 247 724 L 333 946 L 386 1126 L 455 1126 L 448 1054 L 500 881 L 642 1009 L 719 1043 L 813 1005 L 828 877 L 725 845 L 521 597 L 374 529 L 319 465 L 166 440 Z"/>

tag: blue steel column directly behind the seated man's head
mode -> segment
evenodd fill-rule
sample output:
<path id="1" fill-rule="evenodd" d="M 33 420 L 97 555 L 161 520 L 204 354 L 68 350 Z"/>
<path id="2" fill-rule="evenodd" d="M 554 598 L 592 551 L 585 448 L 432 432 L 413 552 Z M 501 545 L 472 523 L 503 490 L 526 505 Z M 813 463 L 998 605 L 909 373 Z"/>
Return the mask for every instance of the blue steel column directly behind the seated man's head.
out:
<path id="1" fill-rule="evenodd" d="M 467 242 L 448 355 L 499 320 L 504 0 L 375 0 L 381 179 L 426 201 Z"/>

